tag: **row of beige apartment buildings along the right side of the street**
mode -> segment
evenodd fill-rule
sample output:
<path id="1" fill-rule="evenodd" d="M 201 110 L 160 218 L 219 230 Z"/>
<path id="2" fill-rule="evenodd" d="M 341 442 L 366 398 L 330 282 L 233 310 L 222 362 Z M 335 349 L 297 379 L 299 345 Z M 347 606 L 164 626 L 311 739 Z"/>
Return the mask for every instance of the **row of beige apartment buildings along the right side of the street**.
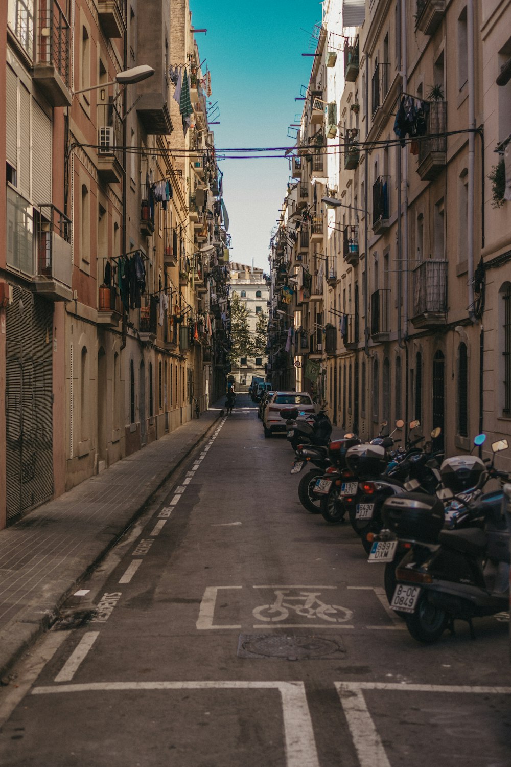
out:
<path id="1" fill-rule="evenodd" d="M 338 3 L 339 38 L 329 35 L 334 5 L 323 3 L 291 160 L 293 176 L 304 152 L 322 151 L 329 168 L 328 140 L 314 137 L 333 135 L 337 117 L 337 183 L 328 170 L 319 194 L 316 179 L 298 216 L 317 244 L 316 261 L 311 246 L 303 252 L 311 286 L 294 298 L 307 347 L 301 357 L 295 347 L 295 364 L 308 364 L 332 419 L 362 436 L 399 417 L 418 418 L 426 433 L 440 426 L 437 447 L 450 453 L 481 431 L 509 436 L 510 4 L 368 0 L 349 4 L 346 21 L 357 25 L 348 28 Z M 339 59 L 345 82 L 330 106 L 322 67 Z M 285 232 L 288 285 L 289 221 L 273 257 Z"/>

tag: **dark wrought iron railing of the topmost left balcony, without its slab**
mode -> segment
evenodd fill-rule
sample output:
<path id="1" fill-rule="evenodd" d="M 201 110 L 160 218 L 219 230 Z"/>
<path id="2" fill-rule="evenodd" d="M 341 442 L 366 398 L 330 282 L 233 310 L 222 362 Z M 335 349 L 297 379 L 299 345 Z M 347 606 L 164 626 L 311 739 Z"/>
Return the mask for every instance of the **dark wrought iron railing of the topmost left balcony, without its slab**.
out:
<path id="1" fill-rule="evenodd" d="M 52 64 L 70 88 L 70 25 L 55 0 L 41 0 L 38 8 L 37 63 Z"/>

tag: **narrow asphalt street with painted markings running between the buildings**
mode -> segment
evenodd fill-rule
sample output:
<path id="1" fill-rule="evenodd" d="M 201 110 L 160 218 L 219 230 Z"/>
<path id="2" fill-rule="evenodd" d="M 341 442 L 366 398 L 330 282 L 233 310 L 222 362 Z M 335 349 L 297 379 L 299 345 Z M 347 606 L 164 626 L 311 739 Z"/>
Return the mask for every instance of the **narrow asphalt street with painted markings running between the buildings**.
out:
<path id="1" fill-rule="evenodd" d="M 292 459 L 238 395 L 18 663 L 3 767 L 508 767 L 509 623 L 412 640 Z"/>

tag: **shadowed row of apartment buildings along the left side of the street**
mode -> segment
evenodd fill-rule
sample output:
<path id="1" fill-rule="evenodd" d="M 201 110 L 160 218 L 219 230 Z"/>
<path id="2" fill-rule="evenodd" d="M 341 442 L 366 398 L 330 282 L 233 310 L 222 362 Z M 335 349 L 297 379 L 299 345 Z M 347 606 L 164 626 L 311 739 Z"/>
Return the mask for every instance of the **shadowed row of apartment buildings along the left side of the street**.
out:
<path id="1" fill-rule="evenodd" d="M 5 15 L 0 526 L 223 390 L 230 245 L 188 3 Z"/>

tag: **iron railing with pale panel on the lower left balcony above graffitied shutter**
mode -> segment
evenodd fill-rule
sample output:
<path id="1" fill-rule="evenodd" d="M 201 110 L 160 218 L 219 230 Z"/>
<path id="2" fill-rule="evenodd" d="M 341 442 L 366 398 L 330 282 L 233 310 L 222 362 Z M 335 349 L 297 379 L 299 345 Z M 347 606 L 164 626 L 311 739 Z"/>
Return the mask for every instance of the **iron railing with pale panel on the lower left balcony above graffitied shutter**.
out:
<path id="1" fill-rule="evenodd" d="M 40 205 L 38 219 L 38 276 L 70 288 L 73 275 L 71 221 L 54 205 Z"/>

